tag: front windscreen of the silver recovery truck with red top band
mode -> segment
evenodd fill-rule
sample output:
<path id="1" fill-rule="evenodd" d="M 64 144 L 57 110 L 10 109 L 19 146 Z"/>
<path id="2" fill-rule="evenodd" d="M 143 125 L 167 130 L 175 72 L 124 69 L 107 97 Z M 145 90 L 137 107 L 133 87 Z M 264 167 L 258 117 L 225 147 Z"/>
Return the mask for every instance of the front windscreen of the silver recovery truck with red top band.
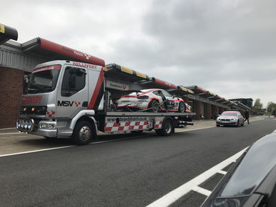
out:
<path id="1" fill-rule="evenodd" d="M 24 94 L 55 90 L 60 68 L 60 65 L 54 65 L 35 69 L 24 88 Z"/>

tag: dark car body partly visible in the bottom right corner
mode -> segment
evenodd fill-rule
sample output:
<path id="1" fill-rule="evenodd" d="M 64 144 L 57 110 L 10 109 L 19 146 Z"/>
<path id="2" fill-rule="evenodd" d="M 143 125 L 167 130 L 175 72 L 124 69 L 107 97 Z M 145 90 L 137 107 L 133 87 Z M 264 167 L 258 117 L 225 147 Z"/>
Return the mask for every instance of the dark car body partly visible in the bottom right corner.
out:
<path id="1" fill-rule="evenodd" d="M 201 207 L 276 206 L 276 132 L 255 142 Z"/>

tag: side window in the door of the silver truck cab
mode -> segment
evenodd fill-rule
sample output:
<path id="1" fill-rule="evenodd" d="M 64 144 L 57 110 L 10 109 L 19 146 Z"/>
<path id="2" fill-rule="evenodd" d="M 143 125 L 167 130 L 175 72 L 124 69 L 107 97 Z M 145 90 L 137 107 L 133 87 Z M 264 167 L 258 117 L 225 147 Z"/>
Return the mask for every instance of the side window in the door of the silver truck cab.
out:
<path id="1" fill-rule="evenodd" d="M 70 97 L 86 86 L 86 72 L 80 68 L 67 67 L 64 71 L 61 96 Z"/>

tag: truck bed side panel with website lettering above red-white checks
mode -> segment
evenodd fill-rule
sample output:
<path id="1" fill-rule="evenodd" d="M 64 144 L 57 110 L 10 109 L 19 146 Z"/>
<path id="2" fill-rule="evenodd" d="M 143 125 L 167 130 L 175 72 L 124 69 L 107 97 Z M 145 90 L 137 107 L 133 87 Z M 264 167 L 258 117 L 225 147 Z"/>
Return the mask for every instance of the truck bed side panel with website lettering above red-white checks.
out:
<path id="1" fill-rule="evenodd" d="M 124 132 L 162 128 L 165 117 L 106 117 L 104 132 Z"/>

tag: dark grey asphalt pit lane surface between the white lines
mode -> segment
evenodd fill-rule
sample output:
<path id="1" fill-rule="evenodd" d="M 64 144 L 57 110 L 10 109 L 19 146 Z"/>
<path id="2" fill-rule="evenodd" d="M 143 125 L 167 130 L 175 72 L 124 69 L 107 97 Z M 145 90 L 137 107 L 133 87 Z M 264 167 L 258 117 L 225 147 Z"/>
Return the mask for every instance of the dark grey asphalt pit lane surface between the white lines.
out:
<path id="1" fill-rule="evenodd" d="M 275 128 L 264 119 L 0 157 L 0 206 L 146 206 Z"/>

